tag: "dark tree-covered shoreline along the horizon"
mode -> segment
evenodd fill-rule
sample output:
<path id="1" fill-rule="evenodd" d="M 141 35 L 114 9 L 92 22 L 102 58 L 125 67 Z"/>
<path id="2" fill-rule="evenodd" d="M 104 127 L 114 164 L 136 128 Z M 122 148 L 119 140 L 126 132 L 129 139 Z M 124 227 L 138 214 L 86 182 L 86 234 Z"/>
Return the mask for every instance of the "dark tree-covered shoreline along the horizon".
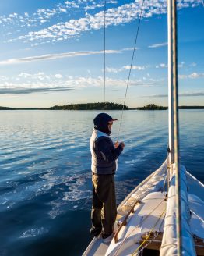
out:
<path id="1" fill-rule="evenodd" d="M 123 105 L 118 103 L 105 103 L 105 110 L 121 110 Z M 179 106 L 179 109 L 204 109 L 204 106 Z M 137 108 L 128 108 L 127 105 L 124 106 L 124 110 L 167 110 L 167 106 L 157 106 L 154 104 L 149 104 L 144 107 L 137 107 Z M 2 107 L 0 106 L 0 110 L 104 110 L 104 103 L 97 102 L 97 103 L 83 103 L 83 104 L 70 104 L 70 105 L 63 105 L 58 106 L 55 105 L 51 108 L 9 108 L 9 107 Z"/>

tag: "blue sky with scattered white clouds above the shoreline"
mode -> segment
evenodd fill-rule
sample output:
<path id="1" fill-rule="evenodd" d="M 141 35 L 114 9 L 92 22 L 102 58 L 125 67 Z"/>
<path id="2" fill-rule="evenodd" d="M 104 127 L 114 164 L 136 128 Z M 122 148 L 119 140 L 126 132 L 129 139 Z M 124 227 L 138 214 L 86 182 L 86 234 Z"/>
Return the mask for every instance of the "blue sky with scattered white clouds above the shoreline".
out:
<path id="1" fill-rule="evenodd" d="M 142 1 L 107 0 L 106 101 L 122 103 Z M 179 105 L 204 105 L 204 7 L 178 1 Z M 104 0 L 0 2 L 0 105 L 103 101 Z M 166 0 L 146 0 L 126 105 L 167 105 Z"/>

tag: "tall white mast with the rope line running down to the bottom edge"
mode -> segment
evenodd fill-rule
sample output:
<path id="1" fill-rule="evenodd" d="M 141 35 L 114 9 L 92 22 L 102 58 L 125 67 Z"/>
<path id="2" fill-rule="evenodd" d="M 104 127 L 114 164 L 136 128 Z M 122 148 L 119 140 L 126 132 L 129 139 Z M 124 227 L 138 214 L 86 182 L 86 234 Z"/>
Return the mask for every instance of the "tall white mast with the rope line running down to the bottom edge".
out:
<path id="1" fill-rule="evenodd" d="M 168 15 L 168 92 L 169 92 L 169 161 L 175 166 L 176 229 L 177 251 L 182 254 L 181 237 L 181 190 L 179 172 L 179 133 L 178 133 L 178 62 L 177 62 L 177 4 L 167 0 Z"/>

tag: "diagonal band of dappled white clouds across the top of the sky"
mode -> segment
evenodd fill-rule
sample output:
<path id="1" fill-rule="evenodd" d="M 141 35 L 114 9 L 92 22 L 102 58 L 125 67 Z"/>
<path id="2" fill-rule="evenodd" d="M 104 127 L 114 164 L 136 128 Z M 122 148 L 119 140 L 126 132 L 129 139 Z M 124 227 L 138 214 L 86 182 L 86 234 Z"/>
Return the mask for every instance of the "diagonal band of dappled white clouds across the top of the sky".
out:
<path id="1" fill-rule="evenodd" d="M 79 2 L 81 1 L 78 1 L 78 3 Z M 90 3 L 90 1 L 88 2 Z M 70 3 L 71 2 L 67 1 L 67 4 L 70 4 Z M 100 3 L 97 3 L 97 5 L 101 5 Z M 195 0 L 181 0 L 179 6 L 181 9 L 181 8 L 186 8 L 192 5 L 197 6 L 200 4 L 201 2 L 196 2 Z M 106 13 L 107 27 L 117 26 L 118 24 L 121 24 L 121 23 L 130 23 L 133 20 L 138 19 L 140 15 L 140 8 L 141 8 L 141 2 L 136 1 L 136 2 L 118 6 L 117 8 L 107 9 L 107 13 Z M 167 12 L 166 9 L 167 9 L 166 1 L 161 1 L 160 4 L 158 4 L 158 2 L 156 1 L 145 2 L 142 16 L 151 17 L 153 15 L 166 13 Z M 51 14 L 48 14 L 48 13 L 51 13 Z M 49 15 L 52 15 L 52 13 L 54 12 L 53 11 L 50 12 L 47 10 L 48 17 Z M 44 17 L 44 20 L 46 20 L 45 17 Z M 29 32 L 29 34 L 19 37 L 19 40 L 23 40 L 23 41 L 37 40 L 41 42 L 44 42 L 46 40 L 47 42 L 53 42 L 53 40 L 55 41 L 58 37 L 63 38 L 63 40 L 67 40 L 72 37 L 79 37 L 80 34 L 82 34 L 85 31 L 99 30 L 102 27 L 104 27 L 104 11 L 97 12 L 94 15 L 90 15 L 89 13 L 86 13 L 86 16 L 79 18 L 79 20 L 72 19 L 64 23 L 56 23 L 55 25 L 52 25 L 51 27 L 47 27 L 43 30 L 31 31 Z M 161 46 L 164 46 L 164 44 L 167 44 L 167 43 L 154 44 L 154 45 L 150 45 L 149 47 L 150 48 L 161 47 Z"/>

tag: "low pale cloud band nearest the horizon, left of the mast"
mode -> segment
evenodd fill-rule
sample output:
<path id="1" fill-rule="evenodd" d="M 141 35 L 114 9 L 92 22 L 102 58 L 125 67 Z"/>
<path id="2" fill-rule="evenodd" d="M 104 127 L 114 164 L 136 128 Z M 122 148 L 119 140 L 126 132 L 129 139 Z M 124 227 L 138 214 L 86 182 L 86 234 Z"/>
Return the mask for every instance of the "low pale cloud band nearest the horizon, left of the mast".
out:
<path id="1" fill-rule="evenodd" d="M 127 80 L 107 76 L 106 84 L 110 88 L 120 88 L 126 86 Z M 130 80 L 131 86 L 146 87 L 154 84 L 154 82 L 143 83 L 140 79 Z M 67 91 L 86 87 L 104 87 L 104 76 L 67 76 L 60 73 L 47 74 L 44 72 L 19 73 L 18 76 L 12 77 L 0 76 L 0 94 Z"/>

